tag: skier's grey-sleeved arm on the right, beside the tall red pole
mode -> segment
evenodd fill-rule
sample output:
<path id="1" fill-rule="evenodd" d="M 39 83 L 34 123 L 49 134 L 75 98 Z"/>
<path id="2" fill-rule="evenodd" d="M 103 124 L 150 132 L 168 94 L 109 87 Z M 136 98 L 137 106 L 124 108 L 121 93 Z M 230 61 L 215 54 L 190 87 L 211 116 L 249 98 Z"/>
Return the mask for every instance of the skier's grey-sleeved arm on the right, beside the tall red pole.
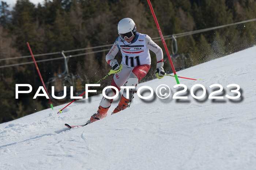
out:
<path id="1" fill-rule="evenodd" d="M 163 51 L 151 38 L 150 36 L 146 36 L 146 47 L 153 51 L 157 56 L 157 67 L 163 66 Z"/>

